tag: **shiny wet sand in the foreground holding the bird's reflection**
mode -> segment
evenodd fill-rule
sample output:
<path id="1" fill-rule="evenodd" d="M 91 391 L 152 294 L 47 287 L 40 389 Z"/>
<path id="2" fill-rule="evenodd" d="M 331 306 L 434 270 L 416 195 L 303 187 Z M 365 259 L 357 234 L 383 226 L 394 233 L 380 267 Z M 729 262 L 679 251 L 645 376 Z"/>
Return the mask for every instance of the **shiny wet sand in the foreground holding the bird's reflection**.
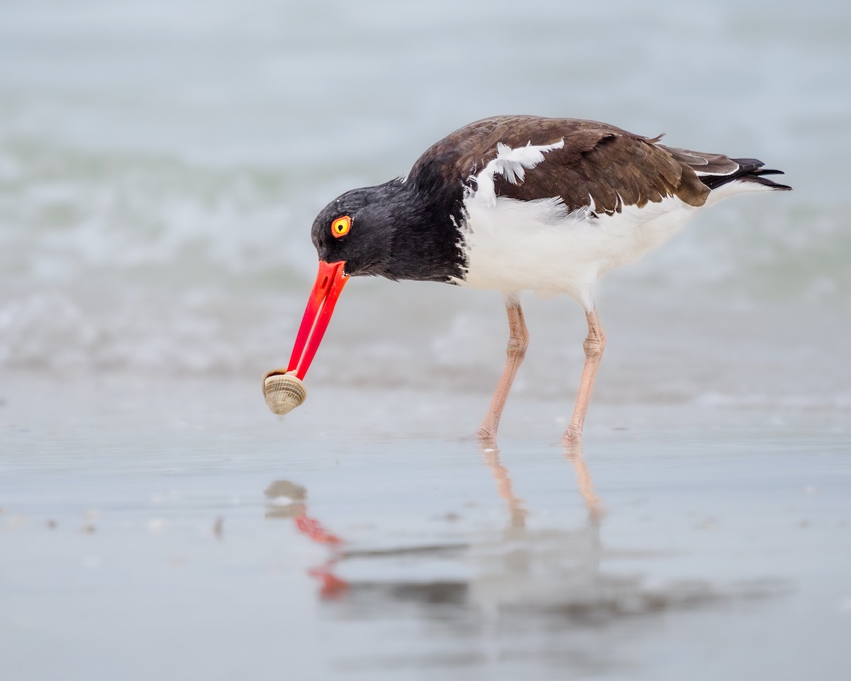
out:
<path id="1" fill-rule="evenodd" d="M 3 678 L 840 678 L 847 414 L 0 390 Z"/>

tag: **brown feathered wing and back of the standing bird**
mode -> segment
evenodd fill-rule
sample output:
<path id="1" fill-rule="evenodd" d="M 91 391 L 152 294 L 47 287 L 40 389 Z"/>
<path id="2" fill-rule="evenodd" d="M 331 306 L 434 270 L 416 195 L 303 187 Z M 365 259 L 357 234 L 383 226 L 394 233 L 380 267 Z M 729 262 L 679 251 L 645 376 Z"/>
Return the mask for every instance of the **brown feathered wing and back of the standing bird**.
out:
<path id="1" fill-rule="evenodd" d="M 424 188 L 447 178 L 467 181 L 497 154 L 497 143 L 517 147 L 529 143 L 564 146 L 546 152 L 544 161 L 529 170 L 524 182 L 494 178 L 498 196 L 523 200 L 562 197 L 568 209 L 594 201 L 595 210 L 620 212 L 623 205 L 643 206 L 668 196 L 700 206 L 710 189 L 692 165 L 720 168 L 727 157 L 668 149 L 656 141 L 606 123 L 574 118 L 496 116 L 471 123 L 431 146 L 408 175 Z M 692 155 L 688 156 L 687 155 Z"/>

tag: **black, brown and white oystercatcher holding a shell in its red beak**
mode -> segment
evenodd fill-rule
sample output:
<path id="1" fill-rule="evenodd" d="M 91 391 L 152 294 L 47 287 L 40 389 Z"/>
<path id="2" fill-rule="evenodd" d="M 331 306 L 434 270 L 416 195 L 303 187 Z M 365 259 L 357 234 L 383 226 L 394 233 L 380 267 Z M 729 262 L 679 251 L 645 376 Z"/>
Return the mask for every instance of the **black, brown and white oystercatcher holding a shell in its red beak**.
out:
<path id="1" fill-rule="evenodd" d="M 661 137 L 661 136 L 660 136 Z M 564 438 L 580 437 L 606 336 L 593 289 L 606 272 L 673 237 L 698 210 L 744 192 L 788 190 L 755 158 L 691 152 L 605 123 L 496 116 L 431 146 L 408 175 L 328 203 L 311 237 L 319 272 L 287 369 L 304 378 L 350 277 L 494 289 L 508 313 L 507 361 L 477 434 L 495 438 L 528 332 L 518 295 L 567 294 L 585 310 L 585 366 Z M 296 381 L 297 379 L 297 381 Z M 286 382 L 286 381 L 283 381 Z"/>

